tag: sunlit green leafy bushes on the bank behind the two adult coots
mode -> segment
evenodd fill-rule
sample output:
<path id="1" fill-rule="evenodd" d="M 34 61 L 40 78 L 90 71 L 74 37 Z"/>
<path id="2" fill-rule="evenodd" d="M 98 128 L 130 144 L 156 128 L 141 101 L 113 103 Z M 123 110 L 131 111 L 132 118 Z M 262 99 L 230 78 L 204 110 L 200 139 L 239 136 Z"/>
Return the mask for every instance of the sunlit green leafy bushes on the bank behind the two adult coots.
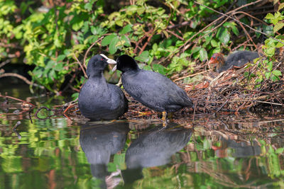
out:
<path id="1" fill-rule="evenodd" d="M 127 54 L 145 63 L 143 69 L 171 76 L 183 69 L 193 71 L 194 64 L 205 62 L 213 53 L 230 50 L 232 45 L 246 40 L 245 35 L 240 35 L 239 25 L 230 20 L 218 27 L 210 25 L 200 32 L 209 24 L 206 20 L 212 21 L 219 15 L 194 1 L 134 2 L 127 2 L 114 11 L 109 10 L 111 6 L 103 0 L 68 1 L 64 6 L 55 5 L 47 12 L 40 12 L 33 2 L 23 2 L 18 7 L 13 0 L 0 0 L 0 38 L 21 47 L 21 58 L 35 66 L 29 72 L 33 81 L 50 91 L 60 90 L 67 82 L 72 82 L 75 88 L 82 85 L 84 80 L 78 79 L 82 68 L 75 57 L 87 64 L 89 57 L 102 51 L 115 57 Z M 238 1 L 237 6 L 245 2 Z M 232 3 L 233 0 L 202 1 L 205 6 L 223 12 Z M 182 12 L 185 9 L 187 11 Z M 17 20 L 18 17 L 21 20 Z M 266 19 L 273 23 L 273 29 L 266 25 L 258 29 L 273 33 L 283 28 L 282 13 L 268 13 Z M 187 25 L 175 29 L 181 21 Z M 242 21 L 249 22 L 247 18 Z M 256 36 L 260 35 L 256 33 Z M 270 55 L 273 54 L 271 43 L 279 46 L 268 41 Z M 91 45 L 92 50 L 83 62 Z M 14 49 L 0 45 L 0 60 L 11 57 L 11 51 Z M 70 81 L 68 76 L 72 75 L 75 79 Z M 276 79 L 275 76 L 279 73 L 272 70 L 270 78 Z"/>

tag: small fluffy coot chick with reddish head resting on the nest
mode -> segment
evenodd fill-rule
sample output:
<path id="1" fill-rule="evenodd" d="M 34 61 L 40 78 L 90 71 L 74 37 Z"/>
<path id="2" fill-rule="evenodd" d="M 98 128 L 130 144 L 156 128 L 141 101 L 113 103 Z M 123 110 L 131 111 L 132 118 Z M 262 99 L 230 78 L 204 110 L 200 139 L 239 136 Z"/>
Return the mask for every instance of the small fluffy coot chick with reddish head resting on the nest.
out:
<path id="1" fill-rule="evenodd" d="M 217 64 L 217 72 L 220 73 L 232 67 L 241 67 L 247 62 L 253 62 L 253 59 L 258 57 L 258 52 L 246 50 L 233 52 L 226 59 L 222 53 L 215 53 L 209 60 L 209 64 Z"/>

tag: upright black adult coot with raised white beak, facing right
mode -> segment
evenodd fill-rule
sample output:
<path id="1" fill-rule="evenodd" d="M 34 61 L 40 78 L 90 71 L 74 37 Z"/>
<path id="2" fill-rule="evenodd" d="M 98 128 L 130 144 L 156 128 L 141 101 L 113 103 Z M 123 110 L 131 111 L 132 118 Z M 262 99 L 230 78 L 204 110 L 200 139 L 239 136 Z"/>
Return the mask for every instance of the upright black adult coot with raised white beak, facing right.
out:
<path id="1" fill-rule="evenodd" d="M 84 117 L 91 120 L 114 120 L 128 110 L 128 101 L 121 89 L 108 84 L 103 71 L 113 59 L 95 55 L 87 66 L 88 80 L 79 93 L 79 109 Z"/>

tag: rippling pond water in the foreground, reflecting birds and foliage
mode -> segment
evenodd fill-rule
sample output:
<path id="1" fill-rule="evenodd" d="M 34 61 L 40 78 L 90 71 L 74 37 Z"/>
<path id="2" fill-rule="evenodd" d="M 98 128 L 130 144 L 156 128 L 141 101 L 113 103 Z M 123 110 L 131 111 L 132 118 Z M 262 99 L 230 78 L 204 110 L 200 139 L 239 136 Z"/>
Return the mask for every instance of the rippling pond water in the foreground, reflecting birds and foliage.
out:
<path id="1" fill-rule="evenodd" d="M 7 88 L 0 92 L 31 96 L 26 87 Z M 39 107 L 64 99 L 36 96 L 31 101 Z M 220 115 L 200 118 L 204 121 L 194 128 L 178 122 L 163 128 L 157 120 L 39 120 L 35 111 L 30 119 L 28 113 L 7 115 L 1 107 L 0 188 L 284 187 L 280 116 L 233 122 Z"/>

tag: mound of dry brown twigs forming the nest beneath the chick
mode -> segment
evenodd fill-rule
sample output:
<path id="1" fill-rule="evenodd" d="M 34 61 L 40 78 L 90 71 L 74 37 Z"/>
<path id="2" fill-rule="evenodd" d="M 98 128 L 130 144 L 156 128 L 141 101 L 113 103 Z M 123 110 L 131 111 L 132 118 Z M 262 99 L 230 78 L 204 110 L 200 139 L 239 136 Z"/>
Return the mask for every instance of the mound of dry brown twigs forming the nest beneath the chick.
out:
<path id="1" fill-rule="evenodd" d="M 263 59 L 259 59 L 259 62 Z M 207 71 L 204 79 L 195 85 L 183 85 L 188 96 L 196 104 L 197 110 L 203 113 L 219 111 L 239 112 L 248 108 L 284 107 L 284 81 L 266 79 L 256 83 L 256 72 L 259 75 L 258 63 L 246 64 L 241 68 L 223 71 L 220 74 Z M 284 71 L 283 59 L 280 57 L 273 63 L 273 70 Z M 246 72 L 246 74 L 245 74 Z M 253 76 L 254 77 L 250 77 Z"/>

